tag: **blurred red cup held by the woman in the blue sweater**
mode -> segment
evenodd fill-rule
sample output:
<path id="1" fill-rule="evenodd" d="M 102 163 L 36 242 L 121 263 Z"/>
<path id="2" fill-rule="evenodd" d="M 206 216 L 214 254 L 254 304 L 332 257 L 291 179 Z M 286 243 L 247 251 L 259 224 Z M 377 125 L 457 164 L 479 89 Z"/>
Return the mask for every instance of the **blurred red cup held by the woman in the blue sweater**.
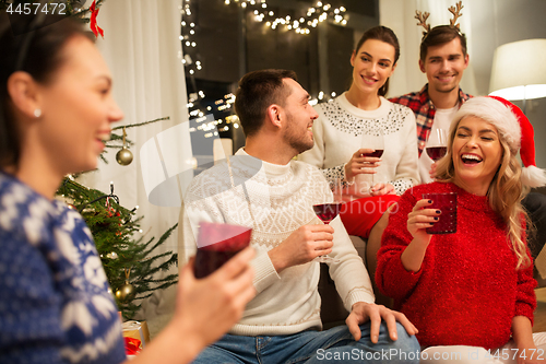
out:
<path id="1" fill-rule="evenodd" d="M 204 278 L 250 244 L 252 228 L 239 225 L 207 223 L 199 226 L 198 253 L 193 272 Z"/>

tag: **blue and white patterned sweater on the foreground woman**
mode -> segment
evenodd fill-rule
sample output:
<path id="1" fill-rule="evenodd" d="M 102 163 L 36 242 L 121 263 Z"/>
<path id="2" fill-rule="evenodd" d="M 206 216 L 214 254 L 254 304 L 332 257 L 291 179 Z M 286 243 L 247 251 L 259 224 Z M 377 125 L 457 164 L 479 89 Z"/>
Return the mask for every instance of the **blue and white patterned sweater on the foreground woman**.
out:
<path id="1" fill-rule="evenodd" d="M 116 303 L 88 227 L 0 171 L 0 363 L 120 363 Z"/>

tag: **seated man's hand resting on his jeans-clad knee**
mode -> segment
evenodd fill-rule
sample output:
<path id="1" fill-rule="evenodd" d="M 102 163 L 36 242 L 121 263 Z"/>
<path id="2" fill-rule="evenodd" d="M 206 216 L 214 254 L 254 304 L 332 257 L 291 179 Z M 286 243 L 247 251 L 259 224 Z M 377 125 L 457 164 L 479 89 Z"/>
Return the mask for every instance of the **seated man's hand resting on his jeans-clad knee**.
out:
<path id="1" fill-rule="evenodd" d="M 396 340 L 399 334 L 396 332 L 396 321 L 402 324 L 408 334 L 416 334 L 417 328 L 402 313 L 391 310 L 382 305 L 368 304 L 365 302 L 357 302 L 353 305 L 353 310 L 348 315 L 345 324 L 356 341 L 360 340 L 360 324 L 370 321 L 370 339 L 371 342 L 377 343 L 379 338 L 379 326 L 381 320 L 387 324 L 389 337 Z"/>

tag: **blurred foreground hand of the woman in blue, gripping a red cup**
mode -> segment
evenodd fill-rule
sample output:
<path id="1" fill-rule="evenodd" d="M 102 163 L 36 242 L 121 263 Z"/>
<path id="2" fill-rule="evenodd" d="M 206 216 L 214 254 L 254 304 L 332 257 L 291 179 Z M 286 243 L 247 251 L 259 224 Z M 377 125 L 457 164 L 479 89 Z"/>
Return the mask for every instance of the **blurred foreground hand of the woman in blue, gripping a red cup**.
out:
<path id="1" fill-rule="evenodd" d="M 195 279 L 193 261 L 180 269 L 175 316 L 142 352 L 123 364 L 190 363 L 204 348 L 227 332 L 256 295 L 248 247 L 211 275 Z"/>

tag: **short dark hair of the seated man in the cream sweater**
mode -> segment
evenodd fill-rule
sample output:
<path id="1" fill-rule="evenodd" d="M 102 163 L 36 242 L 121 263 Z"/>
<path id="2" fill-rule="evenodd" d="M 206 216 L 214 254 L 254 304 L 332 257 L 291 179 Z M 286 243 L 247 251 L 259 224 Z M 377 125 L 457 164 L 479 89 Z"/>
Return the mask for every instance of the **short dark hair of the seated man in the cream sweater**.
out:
<path id="1" fill-rule="evenodd" d="M 262 127 L 268 107 L 285 105 L 290 94 L 283 79 L 297 81 L 296 72 L 288 70 L 260 70 L 245 74 L 235 94 L 235 111 L 245 136 L 256 134 Z"/>

